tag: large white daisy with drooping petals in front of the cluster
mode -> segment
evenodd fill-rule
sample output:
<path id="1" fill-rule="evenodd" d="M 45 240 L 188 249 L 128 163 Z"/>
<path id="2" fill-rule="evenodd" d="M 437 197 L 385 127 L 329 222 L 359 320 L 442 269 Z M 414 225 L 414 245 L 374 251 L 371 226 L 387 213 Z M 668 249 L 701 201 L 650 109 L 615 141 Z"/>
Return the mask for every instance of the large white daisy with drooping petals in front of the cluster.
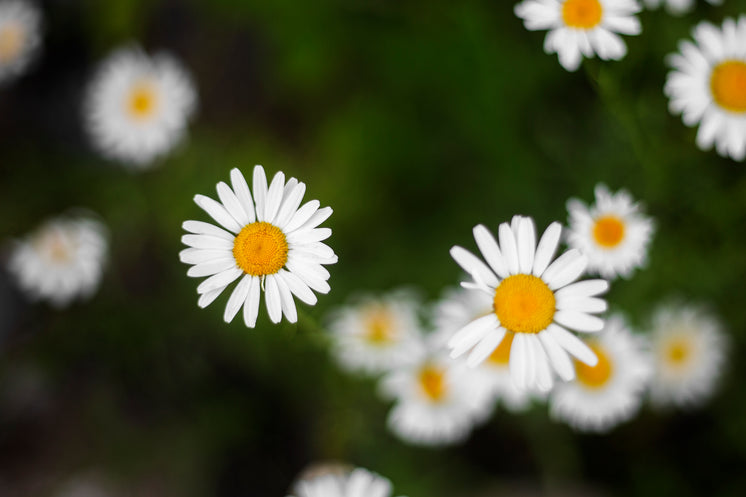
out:
<path id="1" fill-rule="evenodd" d="M 491 296 L 494 306 L 493 313 L 475 319 L 451 338 L 452 357 L 471 350 L 467 363 L 476 366 L 512 332 L 511 377 L 520 389 L 541 391 L 552 388 L 550 365 L 563 379 L 574 377 L 568 353 L 590 366 L 596 364 L 593 351 L 565 327 L 582 332 L 603 328 L 603 320 L 592 314 L 606 310 L 606 301 L 596 295 L 606 291 L 608 283 L 573 283 L 587 265 L 576 249 L 552 262 L 561 231 L 559 223 L 552 223 L 537 247 L 533 220 L 514 216 L 511 224 L 500 225 L 499 245 L 487 228 L 474 228 L 487 264 L 466 249 L 451 249 L 451 256 L 473 278 L 461 285 Z"/>

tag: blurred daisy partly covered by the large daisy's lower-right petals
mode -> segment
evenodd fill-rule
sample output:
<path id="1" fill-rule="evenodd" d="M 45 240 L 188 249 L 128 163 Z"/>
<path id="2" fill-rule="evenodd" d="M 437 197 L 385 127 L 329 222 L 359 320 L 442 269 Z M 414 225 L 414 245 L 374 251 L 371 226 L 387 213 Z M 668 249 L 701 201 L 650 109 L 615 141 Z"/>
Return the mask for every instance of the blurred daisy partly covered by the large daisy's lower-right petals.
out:
<path id="1" fill-rule="evenodd" d="M 621 316 L 609 316 L 604 329 L 587 340 L 598 364 L 575 364 L 575 381 L 558 384 L 551 393 L 555 419 L 578 431 L 606 432 L 631 419 L 642 405 L 650 378 L 644 342 Z"/>

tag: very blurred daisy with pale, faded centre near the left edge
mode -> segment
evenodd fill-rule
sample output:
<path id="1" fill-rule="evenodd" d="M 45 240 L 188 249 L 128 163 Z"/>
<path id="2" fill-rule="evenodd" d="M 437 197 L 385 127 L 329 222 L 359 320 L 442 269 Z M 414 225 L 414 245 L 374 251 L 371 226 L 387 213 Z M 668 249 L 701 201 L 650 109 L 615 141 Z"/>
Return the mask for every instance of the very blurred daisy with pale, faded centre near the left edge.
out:
<path id="1" fill-rule="evenodd" d="M 32 298 L 63 307 L 98 288 L 108 252 L 104 226 L 88 216 L 46 221 L 16 242 L 8 269 Z"/>

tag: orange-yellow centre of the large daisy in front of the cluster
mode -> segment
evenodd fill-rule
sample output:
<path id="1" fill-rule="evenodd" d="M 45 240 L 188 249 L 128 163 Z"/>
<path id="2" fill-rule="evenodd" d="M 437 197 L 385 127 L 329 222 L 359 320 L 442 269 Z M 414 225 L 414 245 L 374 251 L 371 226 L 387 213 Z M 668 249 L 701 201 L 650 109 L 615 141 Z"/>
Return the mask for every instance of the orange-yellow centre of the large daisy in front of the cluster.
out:
<path id="1" fill-rule="evenodd" d="M 554 292 L 530 274 L 508 276 L 495 289 L 495 314 L 508 331 L 538 333 L 552 323 Z"/>

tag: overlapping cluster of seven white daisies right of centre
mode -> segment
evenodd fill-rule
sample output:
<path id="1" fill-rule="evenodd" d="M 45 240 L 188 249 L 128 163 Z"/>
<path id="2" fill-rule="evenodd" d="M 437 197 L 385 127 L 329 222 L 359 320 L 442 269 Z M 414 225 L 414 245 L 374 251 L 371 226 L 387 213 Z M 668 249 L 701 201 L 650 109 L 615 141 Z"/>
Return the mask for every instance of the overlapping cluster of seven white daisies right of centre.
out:
<path id="1" fill-rule="evenodd" d="M 497 238 L 476 226 L 481 257 L 453 247 L 468 278 L 434 304 L 397 290 L 330 313 L 334 357 L 347 371 L 380 375 L 395 435 L 452 444 L 497 405 L 521 412 L 540 402 L 579 431 L 605 432 L 631 419 L 648 394 L 681 407 L 712 394 L 725 338 L 709 312 L 667 303 L 646 333 L 618 311 L 603 316 L 608 281 L 646 263 L 654 227 L 627 192 L 599 185 L 595 197 L 590 206 L 568 202 L 564 237 L 552 223 L 537 242 L 523 216 L 501 224 Z M 555 258 L 562 240 L 569 248 Z"/>

